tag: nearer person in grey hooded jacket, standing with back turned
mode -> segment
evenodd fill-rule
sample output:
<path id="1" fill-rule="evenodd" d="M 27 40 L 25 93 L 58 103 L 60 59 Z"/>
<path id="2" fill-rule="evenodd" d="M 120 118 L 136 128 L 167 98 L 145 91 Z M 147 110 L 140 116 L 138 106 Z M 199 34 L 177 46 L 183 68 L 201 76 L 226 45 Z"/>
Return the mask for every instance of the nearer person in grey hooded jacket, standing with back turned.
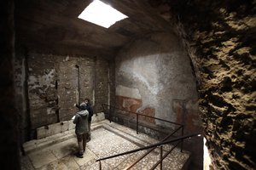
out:
<path id="1" fill-rule="evenodd" d="M 73 119 L 73 123 L 76 124 L 75 133 L 77 135 L 78 144 L 79 144 L 79 153 L 78 157 L 83 158 L 84 151 L 86 148 L 86 140 L 89 132 L 88 127 L 88 118 L 89 111 L 85 109 L 86 104 L 82 103 L 79 105 L 80 111 L 76 113 Z"/>

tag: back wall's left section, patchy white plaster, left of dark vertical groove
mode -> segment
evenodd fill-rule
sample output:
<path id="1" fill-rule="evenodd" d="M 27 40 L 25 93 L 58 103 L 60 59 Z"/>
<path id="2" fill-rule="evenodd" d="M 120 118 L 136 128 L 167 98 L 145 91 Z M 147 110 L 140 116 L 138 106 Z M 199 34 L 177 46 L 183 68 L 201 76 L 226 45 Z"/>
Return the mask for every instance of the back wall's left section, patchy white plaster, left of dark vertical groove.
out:
<path id="1" fill-rule="evenodd" d="M 51 55 L 29 54 L 27 93 L 31 128 L 57 122 L 58 99 L 55 81 L 55 58 Z"/>

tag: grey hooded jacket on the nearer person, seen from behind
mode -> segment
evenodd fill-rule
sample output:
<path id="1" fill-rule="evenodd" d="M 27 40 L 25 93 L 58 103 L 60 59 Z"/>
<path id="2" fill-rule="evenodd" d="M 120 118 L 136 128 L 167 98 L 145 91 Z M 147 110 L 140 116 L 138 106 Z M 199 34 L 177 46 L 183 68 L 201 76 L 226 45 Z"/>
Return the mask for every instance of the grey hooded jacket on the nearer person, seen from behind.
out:
<path id="1" fill-rule="evenodd" d="M 89 132 L 88 128 L 88 117 L 89 112 L 88 111 L 79 111 L 77 112 L 73 123 L 76 124 L 76 134 L 84 134 Z"/>

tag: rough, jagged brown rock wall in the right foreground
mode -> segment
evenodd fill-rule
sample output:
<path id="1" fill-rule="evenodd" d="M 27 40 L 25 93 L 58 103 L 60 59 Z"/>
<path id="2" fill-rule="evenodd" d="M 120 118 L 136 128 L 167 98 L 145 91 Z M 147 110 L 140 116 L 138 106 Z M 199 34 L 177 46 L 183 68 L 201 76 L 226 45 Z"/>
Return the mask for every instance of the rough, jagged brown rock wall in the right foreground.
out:
<path id="1" fill-rule="evenodd" d="M 212 167 L 255 169 L 256 1 L 167 2 L 195 66 Z"/>

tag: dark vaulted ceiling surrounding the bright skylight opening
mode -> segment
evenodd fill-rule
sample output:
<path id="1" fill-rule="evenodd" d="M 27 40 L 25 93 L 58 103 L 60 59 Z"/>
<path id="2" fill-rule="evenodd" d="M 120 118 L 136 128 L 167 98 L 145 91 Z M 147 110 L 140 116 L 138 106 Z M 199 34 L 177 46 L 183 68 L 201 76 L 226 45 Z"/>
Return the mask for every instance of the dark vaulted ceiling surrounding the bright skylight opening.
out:
<path id="1" fill-rule="evenodd" d="M 129 18 L 109 28 L 78 18 L 92 0 L 23 0 L 15 4 L 16 39 L 27 48 L 111 59 L 126 43 L 172 29 L 170 8 L 156 0 L 102 0 Z M 154 6 L 154 7 L 153 7 Z"/>

